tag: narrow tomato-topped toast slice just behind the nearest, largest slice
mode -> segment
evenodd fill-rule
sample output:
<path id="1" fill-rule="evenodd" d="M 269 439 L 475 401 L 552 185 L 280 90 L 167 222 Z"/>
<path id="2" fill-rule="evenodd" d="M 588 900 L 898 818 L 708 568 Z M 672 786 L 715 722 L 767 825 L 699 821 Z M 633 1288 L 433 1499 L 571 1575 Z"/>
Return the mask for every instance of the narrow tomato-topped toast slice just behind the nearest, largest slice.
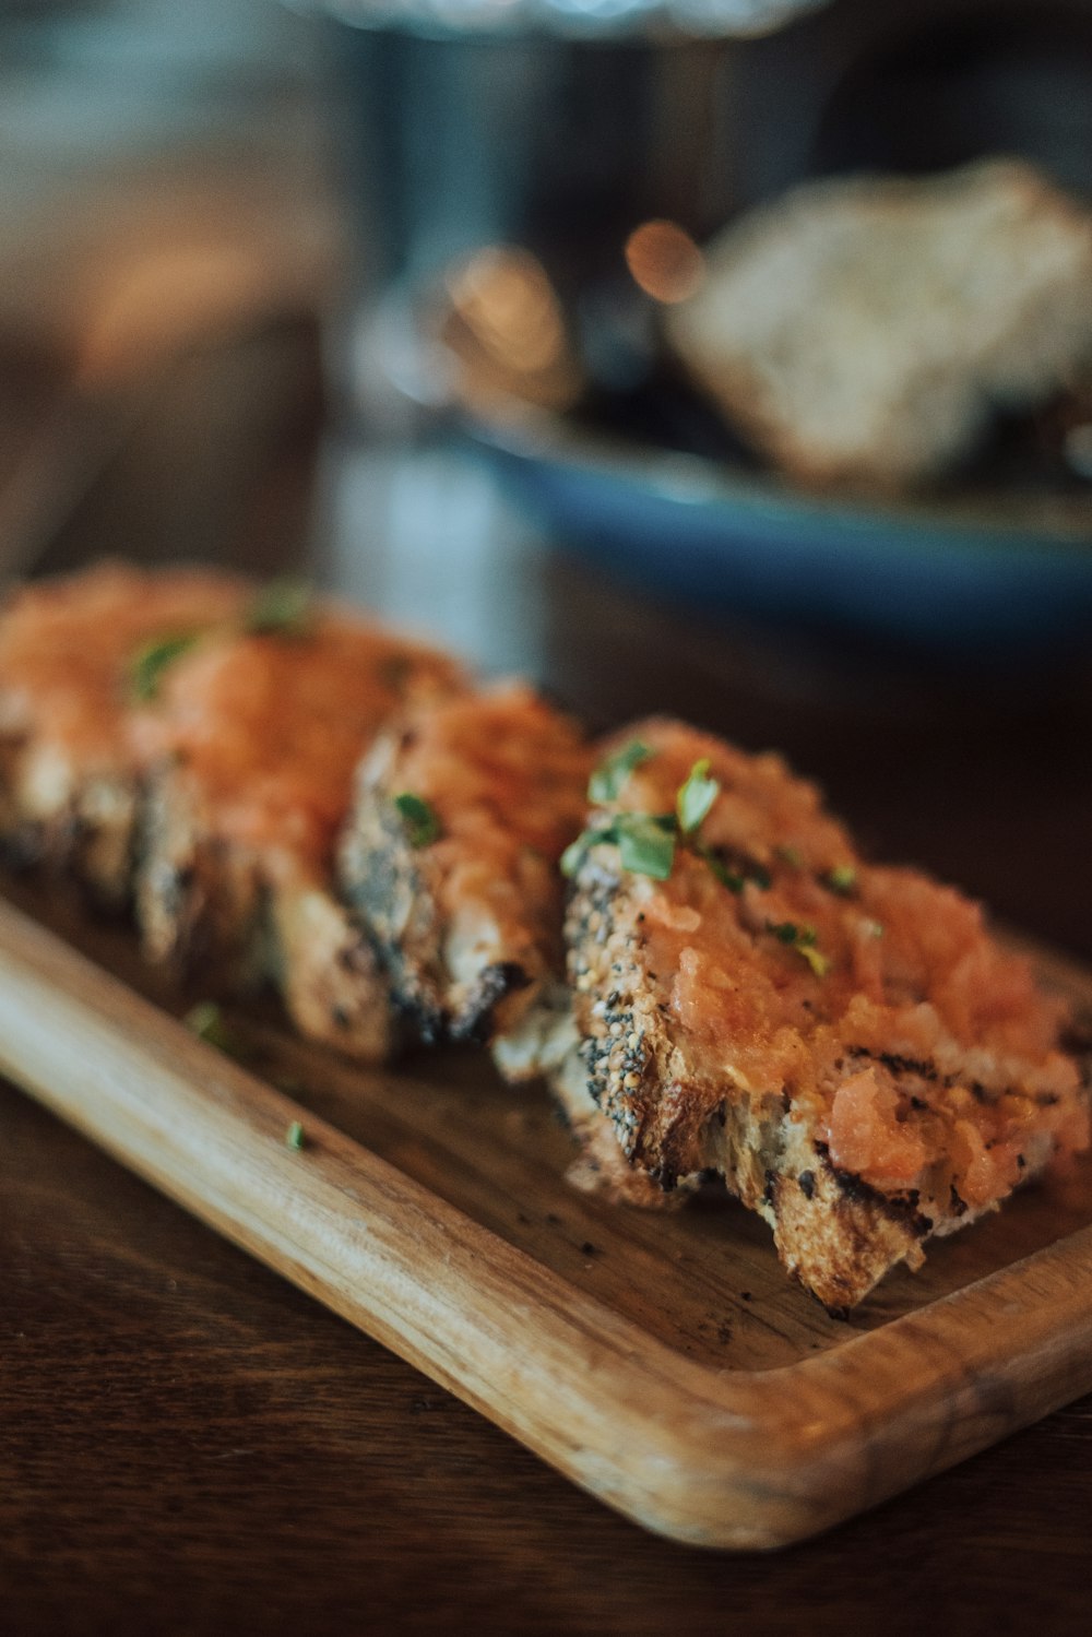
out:
<path id="1" fill-rule="evenodd" d="M 426 1041 L 499 1044 L 537 1072 L 562 990 L 557 861 L 580 832 L 591 751 L 534 689 L 431 701 L 365 758 L 341 843 L 342 892 Z"/>

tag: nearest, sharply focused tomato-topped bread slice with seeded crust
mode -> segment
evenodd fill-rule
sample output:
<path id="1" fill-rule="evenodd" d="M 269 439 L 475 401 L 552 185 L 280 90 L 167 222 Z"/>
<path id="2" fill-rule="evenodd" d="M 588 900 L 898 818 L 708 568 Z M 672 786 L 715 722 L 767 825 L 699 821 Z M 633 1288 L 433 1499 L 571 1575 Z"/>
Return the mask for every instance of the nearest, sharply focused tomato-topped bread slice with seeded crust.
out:
<path id="1" fill-rule="evenodd" d="M 832 1311 L 1089 1141 L 1063 1008 L 976 905 L 864 864 L 817 791 L 676 722 L 614 745 L 566 868 L 589 1092 L 625 1161 L 719 1172 Z"/>

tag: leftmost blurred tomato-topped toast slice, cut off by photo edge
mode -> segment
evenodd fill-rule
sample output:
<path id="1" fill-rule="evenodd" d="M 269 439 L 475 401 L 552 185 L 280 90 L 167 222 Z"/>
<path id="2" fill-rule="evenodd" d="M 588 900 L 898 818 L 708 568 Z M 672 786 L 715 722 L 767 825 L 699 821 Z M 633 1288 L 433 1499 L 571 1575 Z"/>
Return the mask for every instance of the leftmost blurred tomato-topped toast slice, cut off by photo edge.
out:
<path id="1" fill-rule="evenodd" d="M 211 570 L 103 563 L 21 588 L 0 616 L 0 838 L 10 858 L 129 895 L 141 807 L 128 725 L 157 666 L 252 596 Z"/>

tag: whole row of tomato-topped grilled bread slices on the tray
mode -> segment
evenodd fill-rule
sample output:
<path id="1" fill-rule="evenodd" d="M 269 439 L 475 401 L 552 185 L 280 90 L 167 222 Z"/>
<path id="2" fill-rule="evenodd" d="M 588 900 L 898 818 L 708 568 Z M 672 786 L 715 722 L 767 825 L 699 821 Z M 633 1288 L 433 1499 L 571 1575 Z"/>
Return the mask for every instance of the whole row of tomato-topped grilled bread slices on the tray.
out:
<path id="1" fill-rule="evenodd" d="M 365 1061 L 403 1018 L 488 1043 L 578 1185 L 719 1174 L 830 1310 L 1087 1146 L 1061 1005 L 778 756 L 661 719 L 593 751 L 298 586 L 110 565 L 15 596 L 0 724 L 10 848 L 133 897 L 154 959 Z"/>

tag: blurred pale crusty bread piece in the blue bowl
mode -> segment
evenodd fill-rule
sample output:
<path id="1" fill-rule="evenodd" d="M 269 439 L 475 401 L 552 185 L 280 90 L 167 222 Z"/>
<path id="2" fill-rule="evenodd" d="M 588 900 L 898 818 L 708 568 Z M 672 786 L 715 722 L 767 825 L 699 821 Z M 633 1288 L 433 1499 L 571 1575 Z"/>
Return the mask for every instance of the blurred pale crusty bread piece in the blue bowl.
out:
<path id="1" fill-rule="evenodd" d="M 666 329 L 792 478 L 910 486 L 1092 357 L 1092 214 L 1018 160 L 810 182 L 709 246 Z"/>

